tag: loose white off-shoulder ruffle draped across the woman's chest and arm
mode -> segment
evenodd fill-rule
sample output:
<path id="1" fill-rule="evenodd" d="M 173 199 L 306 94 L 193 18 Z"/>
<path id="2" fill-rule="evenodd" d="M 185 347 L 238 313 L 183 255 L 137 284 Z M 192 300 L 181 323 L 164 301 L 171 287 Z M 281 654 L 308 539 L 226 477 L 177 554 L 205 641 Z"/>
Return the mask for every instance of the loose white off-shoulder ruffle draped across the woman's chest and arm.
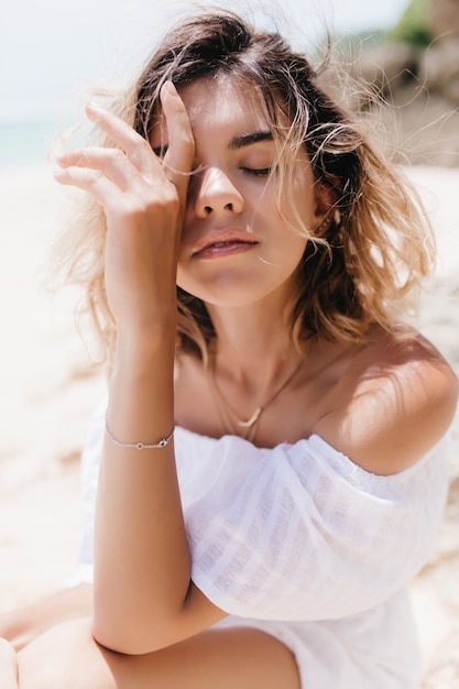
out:
<path id="1" fill-rule="evenodd" d="M 318 436 L 263 450 L 179 429 L 193 579 L 231 614 L 332 620 L 378 605 L 425 562 L 447 479 L 435 448 L 370 474 Z"/>

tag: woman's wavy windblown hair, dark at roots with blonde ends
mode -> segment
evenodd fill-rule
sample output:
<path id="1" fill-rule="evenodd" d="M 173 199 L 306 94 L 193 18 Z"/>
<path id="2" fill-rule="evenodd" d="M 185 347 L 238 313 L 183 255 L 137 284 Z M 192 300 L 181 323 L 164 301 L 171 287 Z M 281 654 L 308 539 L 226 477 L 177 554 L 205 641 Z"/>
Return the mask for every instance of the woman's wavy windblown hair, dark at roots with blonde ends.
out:
<path id="1" fill-rule="evenodd" d="M 431 267 L 428 220 L 397 166 L 371 143 L 364 118 L 334 102 L 320 86 L 323 72 L 278 33 L 256 31 L 230 12 L 190 17 L 166 34 L 140 77 L 112 99 L 112 109 L 149 139 L 166 80 L 179 89 L 222 75 L 261 94 L 283 152 L 278 168 L 284 187 L 288 189 L 287 158 L 305 146 L 318 188 L 334 199 L 332 221 L 320 237 L 299 227 L 298 219 L 297 229 L 309 241 L 288 313 L 294 341 L 299 347 L 310 337 L 364 341 L 375 324 L 390 330 Z M 86 307 L 110 353 L 116 326 L 103 284 L 105 234 L 103 212 L 88 201 L 66 237 L 62 264 L 68 280 L 84 285 Z M 215 337 L 206 305 L 177 287 L 177 308 L 178 349 L 206 360 Z"/>

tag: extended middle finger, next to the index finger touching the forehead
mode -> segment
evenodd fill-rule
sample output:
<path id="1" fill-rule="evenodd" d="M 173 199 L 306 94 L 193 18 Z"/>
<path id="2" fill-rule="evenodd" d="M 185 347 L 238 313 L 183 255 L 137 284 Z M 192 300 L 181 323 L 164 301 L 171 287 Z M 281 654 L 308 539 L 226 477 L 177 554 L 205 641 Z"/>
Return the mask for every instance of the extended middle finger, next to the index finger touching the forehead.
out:
<path id="1" fill-rule="evenodd" d="M 156 168 L 161 167 L 161 163 L 153 153 L 150 143 L 127 122 L 95 103 L 86 106 L 86 113 L 91 122 L 99 127 L 124 151 L 132 165 L 141 174 L 147 175 L 152 169 L 152 165 Z"/>

